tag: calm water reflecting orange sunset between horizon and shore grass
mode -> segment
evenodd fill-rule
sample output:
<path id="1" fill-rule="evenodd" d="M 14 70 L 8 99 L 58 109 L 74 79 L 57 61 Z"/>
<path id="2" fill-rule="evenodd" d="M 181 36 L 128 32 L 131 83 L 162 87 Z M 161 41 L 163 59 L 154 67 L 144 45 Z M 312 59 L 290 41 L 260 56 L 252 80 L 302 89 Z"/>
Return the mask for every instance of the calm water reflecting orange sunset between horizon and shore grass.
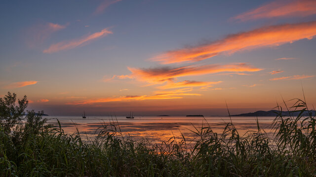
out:
<path id="1" fill-rule="evenodd" d="M 181 139 L 182 135 L 186 140 L 197 138 L 192 131 L 200 130 L 201 127 L 210 126 L 212 130 L 221 134 L 224 130 L 225 123 L 230 122 L 229 117 L 158 117 L 146 116 L 133 119 L 122 116 L 97 116 L 97 117 L 75 117 L 75 116 L 45 116 L 49 123 L 58 125 L 57 119 L 65 133 L 73 134 L 77 132 L 76 127 L 82 137 L 92 138 L 96 135 L 99 127 L 106 125 L 109 129 L 117 129 L 125 137 L 129 136 L 135 140 L 147 138 L 152 142 L 159 143 L 167 141 L 171 137 Z M 271 134 L 271 123 L 275 117 L 258 117 L 259 125 L 268 134 Z M 257 130 L 255 117 L 232 117 L 237 131 L 243 135 L 247 131 Z M 114 126 L 111 126 L 114 124 Z M 192 131 L 191 131 L 192 130 Z"/>

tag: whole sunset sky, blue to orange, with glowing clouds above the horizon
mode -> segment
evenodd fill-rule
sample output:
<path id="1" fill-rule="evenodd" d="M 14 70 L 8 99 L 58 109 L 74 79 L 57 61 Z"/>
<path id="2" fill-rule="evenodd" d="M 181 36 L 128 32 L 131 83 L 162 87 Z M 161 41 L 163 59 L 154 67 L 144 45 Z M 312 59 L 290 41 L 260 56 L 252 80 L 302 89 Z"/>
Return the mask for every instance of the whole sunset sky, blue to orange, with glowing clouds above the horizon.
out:
<path id="1" fill-rule="evenodd" d="M 315 0 L 2 1 L 0 22 L 0 97 L 48 115 L 316 106 Z"/>

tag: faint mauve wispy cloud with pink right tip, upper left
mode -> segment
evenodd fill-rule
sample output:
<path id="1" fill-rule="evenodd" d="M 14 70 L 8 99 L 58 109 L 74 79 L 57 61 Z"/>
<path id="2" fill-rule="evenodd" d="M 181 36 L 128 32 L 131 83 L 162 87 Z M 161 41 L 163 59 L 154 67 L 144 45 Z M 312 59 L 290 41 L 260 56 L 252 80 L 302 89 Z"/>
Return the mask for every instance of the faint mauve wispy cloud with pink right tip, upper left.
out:
<path id="1" fill-rule="evenodd" d="M 26 29 L 26 43 L 29 47 L 36 47 L 48 39 L 52 33 L 65 29 L 68 24 L 40 23 Z"/>

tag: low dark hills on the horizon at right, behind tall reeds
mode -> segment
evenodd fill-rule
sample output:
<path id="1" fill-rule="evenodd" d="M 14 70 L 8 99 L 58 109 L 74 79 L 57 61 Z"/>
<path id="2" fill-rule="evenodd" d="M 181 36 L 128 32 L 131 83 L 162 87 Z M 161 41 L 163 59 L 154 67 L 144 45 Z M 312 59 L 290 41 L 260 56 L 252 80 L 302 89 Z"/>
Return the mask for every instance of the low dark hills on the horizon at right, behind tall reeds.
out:
<path id="1" fill-rule="evenodd" d="M 239 114 L 239 115 L 231 115 L 234 117 L 276 117 L 279 115 L 280 111 L 278 110 L 270 110 L 270 111 L 257 111 L 254 113 L 244 113 L 244 114 Z M 316 111 L 310 111 L 312 116 L 316 115 Z M 298 116 L 300 113 L 299 112 L 294 112 L 291 113 L 291 116 Z M 304 116 L 308 116 L 308 111 L 305 111 Z M 282 111 L 282 116 L 289 116 L 289 112 L 287 111 Z"/>

